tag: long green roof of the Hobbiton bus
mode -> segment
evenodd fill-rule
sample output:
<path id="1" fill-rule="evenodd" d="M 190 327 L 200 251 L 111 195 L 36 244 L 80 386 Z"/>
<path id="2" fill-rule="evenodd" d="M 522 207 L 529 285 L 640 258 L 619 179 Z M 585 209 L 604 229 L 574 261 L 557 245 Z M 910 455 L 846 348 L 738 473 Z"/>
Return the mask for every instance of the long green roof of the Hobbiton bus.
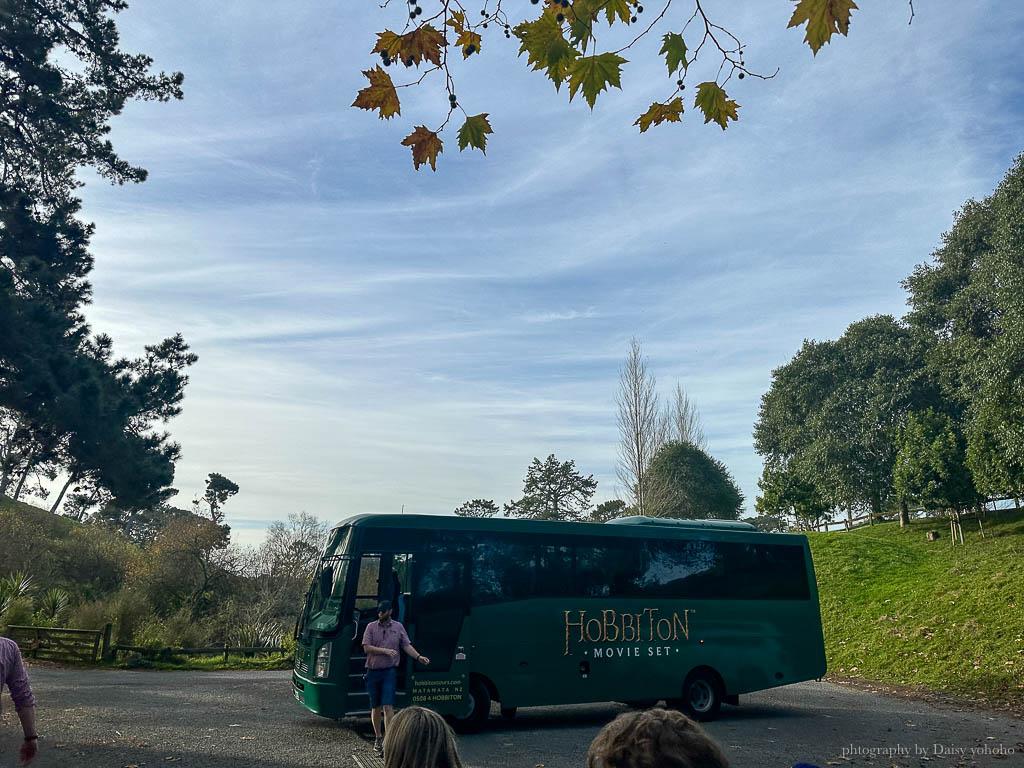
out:
<path id="1" fill-rule="evenodd" d="M 455 515 L 361 514 L 338 522 L 335 527 L 420 528 L 434 530 L 493 530 L 524 534 L 568 534 L 572 536 L 608 536 L 622 538 L 685 538 L 687 534 L 705 537 L 752 536 L 757 538 L 800 539 L 793 534 L 765 534 L 739 520 L 676 520 L 655 517 L 621 517 L 608 523 L 566 522 L 561 520 L 522 520 L 506 517 L 458 517 Z"/>

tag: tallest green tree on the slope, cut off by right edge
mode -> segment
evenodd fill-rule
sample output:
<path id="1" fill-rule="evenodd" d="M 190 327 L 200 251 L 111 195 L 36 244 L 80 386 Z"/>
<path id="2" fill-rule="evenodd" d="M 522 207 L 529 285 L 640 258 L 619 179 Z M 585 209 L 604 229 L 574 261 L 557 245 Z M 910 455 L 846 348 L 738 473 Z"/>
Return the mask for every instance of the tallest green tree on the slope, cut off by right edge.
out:
<path id="1" fill-rule="evenodd" d="M 1024 490 L 1024 155 L 969 201 L 930 263 L 906 279 L 908 321 L 936 341 L 932 367 L 964 411 L 979 490 Z"/>

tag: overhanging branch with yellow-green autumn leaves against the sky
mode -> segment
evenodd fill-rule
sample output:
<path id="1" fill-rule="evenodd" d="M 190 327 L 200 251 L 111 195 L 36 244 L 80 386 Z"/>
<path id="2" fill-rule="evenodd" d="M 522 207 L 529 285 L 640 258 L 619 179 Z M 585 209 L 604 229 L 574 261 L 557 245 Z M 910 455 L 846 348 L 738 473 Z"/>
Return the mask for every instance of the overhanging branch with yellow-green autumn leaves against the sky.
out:
<path id="1" fill-rule="evenodd" d="M 417 125 L 401 141 L 412 150 L 417 169 L 429 163 L 436 171 L 437 156 L 443 152 L 440 134 L 453 117 L 460 115 L 463 120 L 458 132 L 460 152 L 472 147 L 486 153 L 487 136 L 494 133 L 490 113 L 471 115 L 463 108 L 454 73 L 456 62 L 468 65 L 479 58 L 485 47 L 489 50 L 489 40 L 484 46 L 485 37 L 515 38 L 528 68 L 543 73 L 555 90 L 567 84 L 569 100 L 582 94 L 593 110 L 602 92 L 610 87 L 622 89 L 623 67 L 629 63 L 622 54 L 655 30 L 664 30 L 657 55 L 664 58 L 667 70 L 667 93 L 636 119 L 634 125 L 641 133 L 662 123 L 681 122 L 685 90 L 694 80 L 699 82 L 691 91 L 692 108 L 702 115 L 705 123 L 714 122 L 725 130 L 739 119 L 739 104 L 725 90 L 732 78 L 770 80 L 778 74 L 777 69 L 765 74 L 750 68 L 746 44 L 712 18 L 701 0 L 692 0 L 681 13 L 678 5 L 673 8 L 673 0 L 665 0 L 655 14 L 644 13 L 643 0 L 530 3 L 534 10 L 524 13 L 518 7 L 506 10 L 511 5 L 508 0 L 484 0 L 474 13 L 461 0 L 406 0 L 404 4 L 387 0 L 381 9 L 395 14 L 395 27 L 400 31 L 377 33 L 371 53 L 379 55 L 380 62 L 362 72 L 370 84 L 359 90 L 352 106 L 390 120 L 401 115 L 398 89 L 437 83 L 447 96 L 446 104 L 438 99 L 437 127 Z M 848 34 L 851 13 L 856 9 L 853 0 L 796 0 L 788 27 L 805 30 L 804 42 L 816 55 L 833 36 Z M 613 44 L 606 45 L 609 42 Z M 623 44 L 616 46 L 618 42 Z M 449 56 L 452 48 L 461 53 L 451 57 L 454 61 Z M 419 71 L 421 66 L 422 73 L 408 82 L 396 84 L 388 74 L 389 69 Z"/>

